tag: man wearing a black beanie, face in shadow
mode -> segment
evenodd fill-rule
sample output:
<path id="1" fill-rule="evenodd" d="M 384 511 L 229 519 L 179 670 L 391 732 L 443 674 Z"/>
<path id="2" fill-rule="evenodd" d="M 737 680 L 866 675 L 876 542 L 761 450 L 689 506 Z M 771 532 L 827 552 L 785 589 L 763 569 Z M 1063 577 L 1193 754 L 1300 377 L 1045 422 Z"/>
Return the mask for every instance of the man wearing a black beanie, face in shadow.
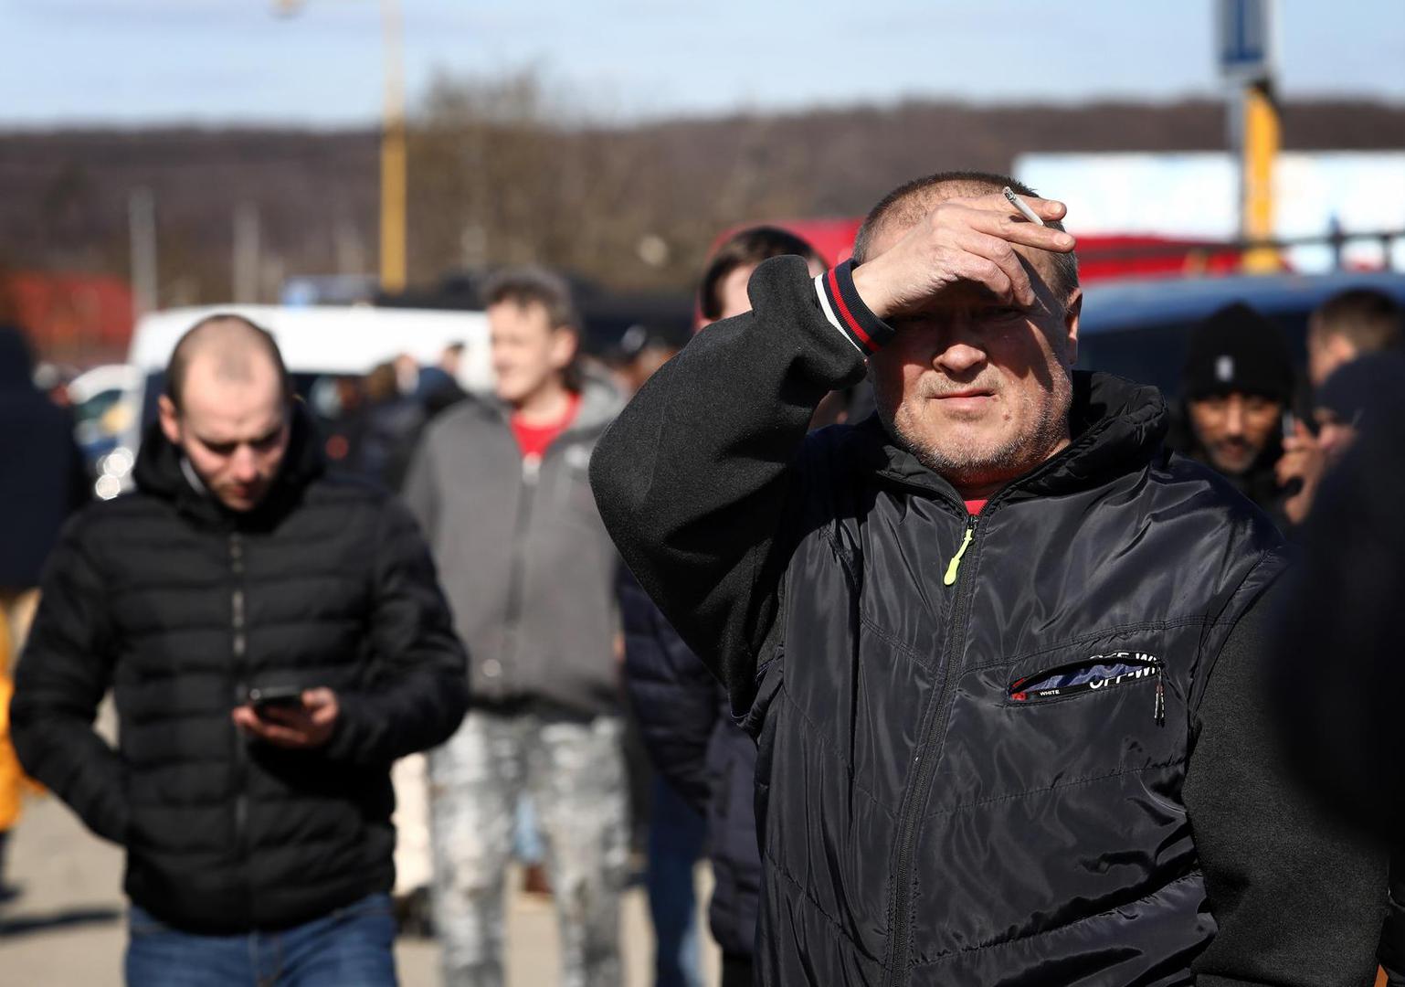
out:
<path id="1" fill-rule="evenodd" d="M 1284 526 L 1274 463 L 1293 399 L 1293 359 L 1279 328 L 1243 302 L 1196 325 L 1182 373 L 1182 453 L 1218 470 Z"/>

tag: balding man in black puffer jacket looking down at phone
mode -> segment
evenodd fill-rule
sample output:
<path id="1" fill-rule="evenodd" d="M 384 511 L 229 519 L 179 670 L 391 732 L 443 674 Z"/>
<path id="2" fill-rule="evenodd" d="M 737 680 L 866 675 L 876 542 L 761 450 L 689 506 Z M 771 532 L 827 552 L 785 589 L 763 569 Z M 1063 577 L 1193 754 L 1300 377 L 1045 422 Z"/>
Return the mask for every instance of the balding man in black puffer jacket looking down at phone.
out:
<path id="1" fill-rule="evenodd" d="M 202 321 L 136 492 L 45 575 L 15 748 L 126 848 L 131 984 L 395 983 L 389 768 L 452 734 L 465 658 L 413 520 L 311 427 L 268 333 Z"/>

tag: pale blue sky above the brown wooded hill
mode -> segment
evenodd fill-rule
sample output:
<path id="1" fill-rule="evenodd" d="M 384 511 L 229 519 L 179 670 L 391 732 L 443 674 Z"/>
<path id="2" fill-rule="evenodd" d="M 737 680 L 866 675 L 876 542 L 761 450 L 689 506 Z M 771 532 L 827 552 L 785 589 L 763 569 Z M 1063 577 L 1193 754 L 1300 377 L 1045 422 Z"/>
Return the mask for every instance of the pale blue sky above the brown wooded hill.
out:
<path id="1" fill-rule="evenodd" d="M 410 97 L 537 66 L 613 118 L 1222 91 L 1213 0 L 402 0 Z M 0 0 L 0 125 L 347 125 L 381 107 L 379 0 Z M 1405 101 L 1405 0 L 1280 0 L 1281 91 Z M 1402 135 L 1405 145 L 1405 135 Z"/>

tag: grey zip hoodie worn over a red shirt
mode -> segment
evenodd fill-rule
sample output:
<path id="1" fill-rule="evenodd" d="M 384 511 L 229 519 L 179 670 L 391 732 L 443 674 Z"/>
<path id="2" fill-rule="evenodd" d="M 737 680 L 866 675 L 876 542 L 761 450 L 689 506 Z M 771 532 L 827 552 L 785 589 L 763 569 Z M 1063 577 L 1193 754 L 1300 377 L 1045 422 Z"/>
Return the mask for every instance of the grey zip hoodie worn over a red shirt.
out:
<path id="1" fill-rule="evenodd" d="M 509 409 L 469 398 L 437 418 L 403 498 L 424 529 L 468 647 L 475 706 L 618 713 L 620 565 L 590 492 L 590 454 L 620 411 L 587 378 L 576 420 L 524 470 Z"/>

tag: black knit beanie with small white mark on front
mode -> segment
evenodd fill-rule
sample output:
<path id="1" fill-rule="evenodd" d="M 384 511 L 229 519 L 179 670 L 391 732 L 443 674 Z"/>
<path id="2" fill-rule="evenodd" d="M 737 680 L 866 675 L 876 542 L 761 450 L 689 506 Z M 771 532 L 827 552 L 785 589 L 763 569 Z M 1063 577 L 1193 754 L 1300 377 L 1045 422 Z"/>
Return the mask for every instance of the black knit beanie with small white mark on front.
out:
<path id="1" fill-rule="evenodd" d="M 1187 398 L 1238 391 L 1288 404 L 1293 357 L 1276 325 L 1235 302 L 1190 330 L 1182 385 Z"/>

